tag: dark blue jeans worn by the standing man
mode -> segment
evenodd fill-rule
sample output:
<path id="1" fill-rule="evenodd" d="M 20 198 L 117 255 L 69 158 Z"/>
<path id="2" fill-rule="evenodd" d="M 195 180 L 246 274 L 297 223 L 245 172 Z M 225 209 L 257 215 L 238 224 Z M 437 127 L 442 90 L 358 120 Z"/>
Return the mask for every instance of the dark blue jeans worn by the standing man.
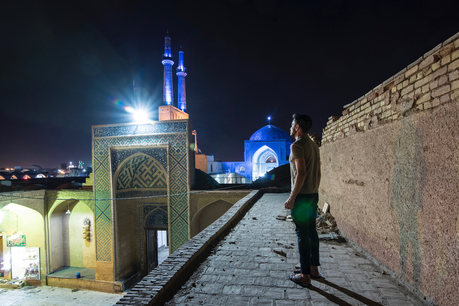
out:
<path id="1" fill-rule="evenodd" d="M 298 237 L 302 274 L 311 274 L 311 266 L 320 266 L 319 236 L 315 227 L 319 194 L 298 194 L 290 210 Z"/>

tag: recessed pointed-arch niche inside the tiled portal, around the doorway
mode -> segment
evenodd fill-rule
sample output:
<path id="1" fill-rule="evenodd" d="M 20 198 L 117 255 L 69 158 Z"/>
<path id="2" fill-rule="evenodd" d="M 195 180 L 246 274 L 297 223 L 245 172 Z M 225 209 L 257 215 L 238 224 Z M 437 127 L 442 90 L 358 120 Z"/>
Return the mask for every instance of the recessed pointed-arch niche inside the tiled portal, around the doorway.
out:
<path id="1" fill-rule="evenodd" d="M 112 147 L 111 155 L 113 234 L 124 241 L 114 247 L 118 279 L 139 267 L 148 270 L 154 249 L 148 233 L 169 229 L 169 199 L 157 197 L 168 195 L 168 146 Z"/>

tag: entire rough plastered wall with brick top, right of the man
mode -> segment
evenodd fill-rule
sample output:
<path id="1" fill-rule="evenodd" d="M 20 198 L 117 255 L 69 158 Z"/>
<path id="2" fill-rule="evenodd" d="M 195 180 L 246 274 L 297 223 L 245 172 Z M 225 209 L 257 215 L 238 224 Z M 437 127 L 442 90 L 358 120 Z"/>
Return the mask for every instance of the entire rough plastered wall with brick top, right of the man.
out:
<path id="1" fill-rule="evenodd" d="M 439 305 L 459 293 L 459 33 L 330 117 L 320 200 Z"/>

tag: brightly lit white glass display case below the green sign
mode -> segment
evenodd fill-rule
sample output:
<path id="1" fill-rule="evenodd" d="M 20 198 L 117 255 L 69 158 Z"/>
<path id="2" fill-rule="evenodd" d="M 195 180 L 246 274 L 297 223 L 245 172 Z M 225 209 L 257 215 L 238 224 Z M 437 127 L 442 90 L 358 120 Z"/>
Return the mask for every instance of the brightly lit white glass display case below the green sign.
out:
<path id="1" fill-rule="evenodd" d="M 40 248 L 11 247 L 11 278 L 40 279 Z"/>

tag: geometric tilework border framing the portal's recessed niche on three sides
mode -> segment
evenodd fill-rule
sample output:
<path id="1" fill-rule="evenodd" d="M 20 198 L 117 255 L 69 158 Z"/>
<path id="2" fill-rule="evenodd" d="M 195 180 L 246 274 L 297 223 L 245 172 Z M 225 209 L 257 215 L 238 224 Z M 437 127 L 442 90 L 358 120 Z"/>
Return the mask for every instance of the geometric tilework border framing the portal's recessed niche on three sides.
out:
<path id="1" fill-rule="evenodd" d="M 174 124 L 159 127 L 164 133 L 171 130 L 187 131 L 187 122 L 173 122 Z M 171 194 L 188 192 L 187 173 L 187 133 L 141 135 L 133 134 L 132 131 L 149 132 L 149 128 L 117 129 L 117 127 L 96 127 L 93 128 L 93 169 L 96 199 L 111 198 L 111 176 L 110 176 L 110 146 L 119 145 L 148 145 L 169 143 L 169 188 Z M 97 131 L 96 131 L 97 129 Z M 139 132 L 139 133 L 140 133 Z M 134 136 L 123 136 L 125 134 Z M 121 136 L 117 136 L 121 135 Z M 145 159 L 147 161 L 148 159 Z M 142 165 L 143 162 L 140 163 Z M 160 162 L 161 164 L 161 162 Z M 139 166 L 140 167 L 140 166 Z M 143 169 L 146 169 L 146 165 Z M 152 173 L 150 173 L 153 175 Z M 145 178 L 145 177 L 144 177 Z M 162 178 L 163 179 L 163 178 Z M 157 179 L 160 184 L 161 178 Z M 134 182 L 134 176 L 133 176 Z M 137 184 L 145 184 L 139 178 Z M 162 184 L 162 183 L 161 183 Z M 115 185 L 116 186 L 116 185 Z M 96 226 L 96 258 L 98 261 L 112 261 L 112 216 L 111 201 L 96 201 L 95 203 L 95 226 Z M 170 199 L 170 235 L 172 250 L 176 250 L 188 240 L 188 197 L 187 195 L 172 196 Z"/>

